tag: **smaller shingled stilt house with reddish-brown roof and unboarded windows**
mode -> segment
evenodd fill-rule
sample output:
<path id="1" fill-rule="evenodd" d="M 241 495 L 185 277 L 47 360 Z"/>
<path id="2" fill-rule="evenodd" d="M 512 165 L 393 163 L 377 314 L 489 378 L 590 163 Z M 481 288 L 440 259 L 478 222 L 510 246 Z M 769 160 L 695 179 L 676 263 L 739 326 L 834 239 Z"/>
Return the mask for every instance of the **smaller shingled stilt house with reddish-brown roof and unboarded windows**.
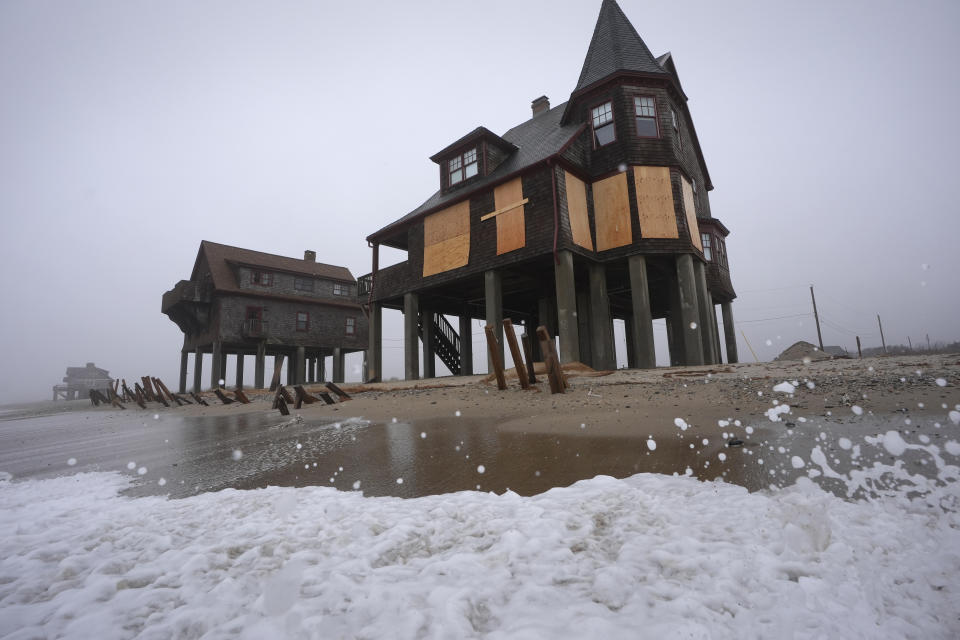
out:
<path id="1" fill-rule="evenodd" d="M 193 388 L 200 390 L 203 354 L 212 354 L 210 385 L 225 376 L 227 355 L 254 354 L 254 385 L 264 386 L 266 356 L 290 358 L 289 383 L 323 379 L 323 358 L 333 356 L 333 380 L 343 381 L 344 355 L 367 348 L 367 320 L 357 285 L 345 267 L 322 264 L 204 240 L 193 273 L 163 294 L 163 313 L 184 333 L 180 391 L 187 385 L 187 356 L 194 357 Z M 319 371 L 318 369 L 319 363 Z"/>

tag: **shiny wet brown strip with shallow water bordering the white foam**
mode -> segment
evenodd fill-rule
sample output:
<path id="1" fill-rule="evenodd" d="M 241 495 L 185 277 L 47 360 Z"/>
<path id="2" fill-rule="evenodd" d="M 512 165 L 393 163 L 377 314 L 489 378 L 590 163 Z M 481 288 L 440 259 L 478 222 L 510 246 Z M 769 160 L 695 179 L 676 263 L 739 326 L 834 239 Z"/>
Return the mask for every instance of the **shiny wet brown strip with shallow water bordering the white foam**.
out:
<path id="1" fill-rule="evenodd" d="M 865 444 L 864 436 L 903 428 L 911 442 L 925 436 L 937 444 L 943 437 L 932 418 L 918 418 L 909 426 L 898 421 L 902 423 L 899 417 L 809 420 L 793 427 L 758 421 L 750 435 L 743 428 L 718 428 L 709 435 L 678 429 L 658 437 L 652 448 L 642 427 L 636 436 L 603 437 L 589 431 L 501 431 L 478 418 L 384 424 L 304 422 L 275 414 L 154 419 L 153 414 L 118 418 L 84 412 L 3 422 L 0 471 L 14 477 L 121 471 L 137 480 L 129 495 L 171 497 L 268 485 L 324 485 L 370 496 L 478 489 L 533 495 L 597 475 L 622 478 L 641 472 L 719 478 L 758 490 L 807 475 L 815 468 L 810 465 L 815 446 L 844 473 L 874 462 L 891 463 L 888 452 Z M 742 438 L 744 446 L 725 446 L 724 431 Z M 841 437 L 860 445 L 858 457 L 840 446 Z M 804 466 L 795 467 L 794 456 Z M 928 457 L 908 451 L 900 459 L 911 473 L 935 473 L 932 465 L 925 468 Z M 818 482 L 837 493 L 845 488 L 835 480 Z"/>

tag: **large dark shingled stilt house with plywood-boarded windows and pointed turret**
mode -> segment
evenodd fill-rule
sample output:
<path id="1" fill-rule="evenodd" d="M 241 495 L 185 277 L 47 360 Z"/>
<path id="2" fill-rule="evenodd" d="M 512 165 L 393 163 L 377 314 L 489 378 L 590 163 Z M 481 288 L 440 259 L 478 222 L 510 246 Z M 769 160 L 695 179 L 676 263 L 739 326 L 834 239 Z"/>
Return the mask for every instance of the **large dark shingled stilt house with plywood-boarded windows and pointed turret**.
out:
<path id="1" fill-rule="evenodd" d="M 434 354 L 472 373 L 472 318 L 544 324 L 562 361 L 597 368 L 616 366 L 615 318 L 629 365 L 654 366 L 652 323 L 665 318 L 672 363 L 716 363 L 718 303 L 735 362 L 729 232 L 710 212 L 713 184 L 672 55 L 654 57 L 603 0 L 570 99 L 532 107 L 502 136 L 479 127 L 438 151 L 439 190 L 368 236 L 368 375 L 382 371 L 384 307 L 404 313 L 407 378 L 418 375 L 418 337 L 426 376 Z M 407 260 L 379 269 L 380 245 Z"/>

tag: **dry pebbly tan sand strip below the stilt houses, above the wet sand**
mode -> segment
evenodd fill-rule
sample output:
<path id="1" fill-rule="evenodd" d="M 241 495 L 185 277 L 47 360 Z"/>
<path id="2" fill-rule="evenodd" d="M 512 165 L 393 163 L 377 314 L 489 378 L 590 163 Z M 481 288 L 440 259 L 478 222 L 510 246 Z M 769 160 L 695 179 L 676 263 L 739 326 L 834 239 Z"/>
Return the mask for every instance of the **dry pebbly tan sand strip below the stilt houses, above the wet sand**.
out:
<path id="1" fill-rule="evenodd" d="M 497 428 L 531 433 L 575 433 L 588 424 L 609 436 L 672 433 L 675 419 L 691 427 L 714 428 L 718 420 L 757 422 L 779 403 L 793 416 L 841 419 L 855 416 L 938 416 L 960 403 L 960 355 L 769 362 L 702 367 L 670 367 L 614 372 L 569 371 L 570 389 L 551 394 L 542 377 L 535 389 L 520 389 L 515 378 L 498 391 L 488 376 L 446 377 L 377 384 L 342 384 L 346 403 L 304 405 L 304 419 L 362 416 L 371 421 L 420 421 L 446 417 L 484 418 Z M 938 381 L 942 383 L 938 384 Z M 793 394 L 776 392 L 797 383 Z M 322 384 L 308 392 L 325 391 Z M 231 415 L 270 411 L 269 392 L 247 392 L 251 404 L 166 409 L 185 415 Z M 946 406 L 944 406 L 946 405 Z M 132 407 L 137 410 L 136 407 Z M 459 413 L 458 413 L 459 412 Z M 789 420 L 787 416 L 786 420 Z"/>

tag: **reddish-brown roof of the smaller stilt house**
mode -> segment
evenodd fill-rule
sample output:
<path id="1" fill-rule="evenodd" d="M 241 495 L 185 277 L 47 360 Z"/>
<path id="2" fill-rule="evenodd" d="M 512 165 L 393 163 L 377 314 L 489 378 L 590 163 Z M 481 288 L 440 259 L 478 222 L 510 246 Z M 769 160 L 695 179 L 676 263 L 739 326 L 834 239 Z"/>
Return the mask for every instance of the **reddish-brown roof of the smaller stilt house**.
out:
<path id="1" fill-rule="evenodd" d="M 209 240 L 200 242 L 200 251 L 197 252 L 197 260 L 190 276 L 191 280 L 195 280 L 198 276 L 197 269 L 200 266 L 201 257 L 206 258 L 210 274 L 213 276 L 213 287 L 218 291 L 240 291 L 235 272 L 231 268 L 232 264 L 354 282 L 353 275 L 346 267 L 287 258 L 286 256 L 253 251 L 252 249 L 241 249 L 240 247 L 231 247 Z"/>

